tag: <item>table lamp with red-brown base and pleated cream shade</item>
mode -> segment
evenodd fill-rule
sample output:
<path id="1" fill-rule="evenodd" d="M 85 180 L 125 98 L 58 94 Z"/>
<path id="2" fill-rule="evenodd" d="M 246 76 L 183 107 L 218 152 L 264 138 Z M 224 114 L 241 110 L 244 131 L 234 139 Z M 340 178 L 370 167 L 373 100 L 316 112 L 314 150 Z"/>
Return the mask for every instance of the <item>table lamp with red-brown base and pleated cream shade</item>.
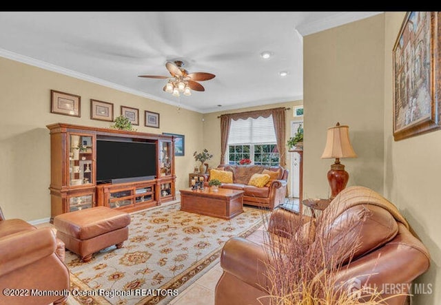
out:
<path id="1" fill-rule="evenodd" d="M 332 200 L 345 189 L 349 180 L 349 173 L 345 171 L 345 165 L 340 163 L 340 158 L 357 158 L 349 141 L 349 126 L 340 126 L 340 123 L 337 123 L 336 126 L 328 128 L 326 146 L 321 158 L 336 158 L 327 174 Z"/>

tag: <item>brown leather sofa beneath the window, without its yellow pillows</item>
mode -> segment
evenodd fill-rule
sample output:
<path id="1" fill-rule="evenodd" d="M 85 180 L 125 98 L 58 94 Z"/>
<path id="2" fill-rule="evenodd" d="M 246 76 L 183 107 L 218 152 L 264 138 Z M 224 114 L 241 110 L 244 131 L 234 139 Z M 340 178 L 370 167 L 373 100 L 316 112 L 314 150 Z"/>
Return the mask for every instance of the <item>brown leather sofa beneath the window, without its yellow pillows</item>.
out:
<path id="1" fill-rule="evenodd" d="M 223 183 L 220 187 L 243 191 L 243 204 L 274 209 L 279 204 L 285 202 L 288 170 L 281 166 L 219 165 L 218 169 L 232 171 L 233 183 Z M 271 181 L 269 187 L 254 187 L 253 185 L 248 185 L 251 176 L 253 176 L 254 173 L 262 173 L 264 169 L 278 171 L 278 178 Z"/>

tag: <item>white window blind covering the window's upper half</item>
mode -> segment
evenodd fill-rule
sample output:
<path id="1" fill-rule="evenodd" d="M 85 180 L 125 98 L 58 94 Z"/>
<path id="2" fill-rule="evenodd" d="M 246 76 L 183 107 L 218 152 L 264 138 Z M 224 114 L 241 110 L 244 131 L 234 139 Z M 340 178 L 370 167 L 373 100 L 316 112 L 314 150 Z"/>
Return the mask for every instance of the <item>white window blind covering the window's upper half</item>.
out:
<path id="1" fill-rule="evenodd" d="M 276 143 L 273 116 L 232 120 L 228 145 Z"/>

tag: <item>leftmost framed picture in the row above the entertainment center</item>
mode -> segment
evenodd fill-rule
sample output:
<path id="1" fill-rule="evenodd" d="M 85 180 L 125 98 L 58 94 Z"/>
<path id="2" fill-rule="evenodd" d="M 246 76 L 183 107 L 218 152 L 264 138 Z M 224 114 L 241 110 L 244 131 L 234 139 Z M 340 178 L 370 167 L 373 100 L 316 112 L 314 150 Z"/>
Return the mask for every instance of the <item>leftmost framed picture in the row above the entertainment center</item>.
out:
<path id="1" fill-rule="evenodd" d="M 81 116 L 81 96 L 50 90 L 50 112 L 65 116 Z"/>

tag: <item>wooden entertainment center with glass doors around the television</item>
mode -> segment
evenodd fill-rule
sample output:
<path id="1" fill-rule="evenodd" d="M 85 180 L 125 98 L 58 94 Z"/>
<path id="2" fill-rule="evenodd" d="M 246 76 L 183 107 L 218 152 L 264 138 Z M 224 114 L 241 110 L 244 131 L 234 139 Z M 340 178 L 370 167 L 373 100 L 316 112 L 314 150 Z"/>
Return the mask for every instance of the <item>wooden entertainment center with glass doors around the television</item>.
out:
<path id="1" fill-rule="evenodd" d="M 176 200 L 173 136 L 65 123 L 47 127 L 50 129 L 51 222 L 61 213 L 90 207 L 130 212 Z M 97 140 L 155 145 L 156 158 L 152 162 L 156 162 L 156 173 L 145 178 L 97 183 Z"/>

